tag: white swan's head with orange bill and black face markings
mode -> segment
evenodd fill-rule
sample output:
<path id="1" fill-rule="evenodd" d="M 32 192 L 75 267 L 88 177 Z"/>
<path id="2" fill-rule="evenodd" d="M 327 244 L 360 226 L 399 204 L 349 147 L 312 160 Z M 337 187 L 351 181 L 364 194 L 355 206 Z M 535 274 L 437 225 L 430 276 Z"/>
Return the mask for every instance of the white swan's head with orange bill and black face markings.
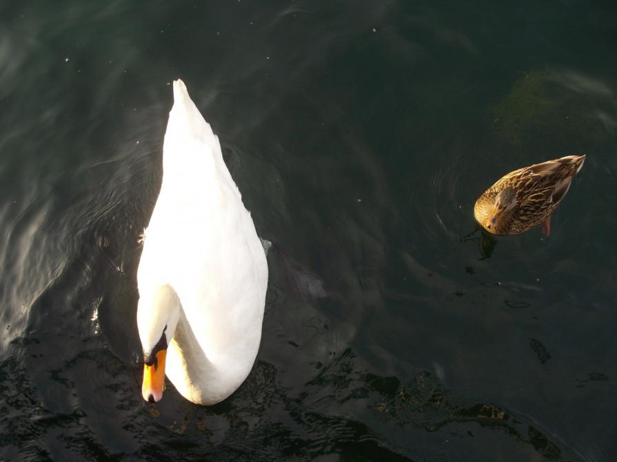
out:
<path id="1" fill-rule="evenodd" d="M 143 348 L 141 395 L 151 403 L 163 397 L 165 355 L 178 324 L 180 308 L 176 291 L 167 284 L 140 294 L 137 303 L 137 328 Z"/>

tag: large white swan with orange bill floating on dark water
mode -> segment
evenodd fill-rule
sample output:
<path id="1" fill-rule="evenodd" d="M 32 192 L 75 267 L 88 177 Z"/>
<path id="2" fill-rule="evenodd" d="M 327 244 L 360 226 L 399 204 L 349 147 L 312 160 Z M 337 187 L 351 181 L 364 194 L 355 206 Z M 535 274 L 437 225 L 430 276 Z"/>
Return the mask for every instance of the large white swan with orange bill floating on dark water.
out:
<path id="1" fill-rule="evenodd" d="M 230 396 L 259 349 L 267 263 L 219 139 L 181 80 L 137 285 L 143 398 L 163 397 L 165 374 L 193 403 Z"/>

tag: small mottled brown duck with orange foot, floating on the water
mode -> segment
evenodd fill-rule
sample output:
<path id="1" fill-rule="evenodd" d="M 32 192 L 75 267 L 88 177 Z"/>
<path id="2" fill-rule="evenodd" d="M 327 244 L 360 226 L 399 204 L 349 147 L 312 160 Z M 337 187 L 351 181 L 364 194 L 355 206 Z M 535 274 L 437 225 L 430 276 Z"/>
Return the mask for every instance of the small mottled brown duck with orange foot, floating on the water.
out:
<path id="1" fill-rule="evenodd" d="M 489 233 L 520 234 L 545 223 L 583 167 L 585 156 L 566 156 L 518 169 L 500 178 L 476 200 L 474 215 Z"/>

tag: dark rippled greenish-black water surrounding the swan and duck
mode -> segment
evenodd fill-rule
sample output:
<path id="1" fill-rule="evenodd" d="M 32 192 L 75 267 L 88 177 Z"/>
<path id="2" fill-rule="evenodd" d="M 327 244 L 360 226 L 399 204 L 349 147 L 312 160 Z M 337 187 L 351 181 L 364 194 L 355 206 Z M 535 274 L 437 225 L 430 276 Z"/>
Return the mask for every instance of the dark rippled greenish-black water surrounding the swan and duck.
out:
<path id="1" fill-rule="evenodd" d="M 617 460 L 617 4 L 502 3 L 1 2 L 1 458 Z M 211 408 L 141 398 L 174 78 L 273 243 Z M 474 233 L 574 154 L 549 238 Z"/>

